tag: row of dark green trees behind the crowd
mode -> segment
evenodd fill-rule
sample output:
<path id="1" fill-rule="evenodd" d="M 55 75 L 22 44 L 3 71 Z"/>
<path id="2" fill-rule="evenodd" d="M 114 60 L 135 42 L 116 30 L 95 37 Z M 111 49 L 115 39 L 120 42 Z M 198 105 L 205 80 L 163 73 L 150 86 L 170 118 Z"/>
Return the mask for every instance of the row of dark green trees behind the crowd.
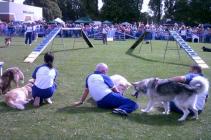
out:
<path id="1" fill-rule="evenodd" d="M 119 22 L 154 22 L 166 19 L 184 23 L 211 23 L 211 0 L 150 0 L 150 12 L 141 12 L 143 0 L 25 0 L 28 5 L 43 8 L 44 18 L 49 21 L 57 17 L 65 21 L 89 16 L 94 20 Z"/>

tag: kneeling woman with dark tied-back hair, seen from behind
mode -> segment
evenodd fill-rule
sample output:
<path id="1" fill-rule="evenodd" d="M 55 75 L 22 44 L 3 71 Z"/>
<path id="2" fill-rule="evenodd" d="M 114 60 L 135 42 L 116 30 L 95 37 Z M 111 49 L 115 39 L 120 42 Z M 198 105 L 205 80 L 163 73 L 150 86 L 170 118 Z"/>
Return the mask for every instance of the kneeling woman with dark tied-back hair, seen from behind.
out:
<path id="1" fill-rule="evenodd" d="M 45 100 L 52 104 L 50 97 L 53 96 L 57 89 L 55 83 L 57 77 L 57 70 L 53 67 L 54 56 L 47 52 L 44 55 L 44 62 L 34 70 L 32 78 L 34 79 L 34 86 L 32 87 L 32 96 L 34 98 L 34 106 L 39 107 Z"/>

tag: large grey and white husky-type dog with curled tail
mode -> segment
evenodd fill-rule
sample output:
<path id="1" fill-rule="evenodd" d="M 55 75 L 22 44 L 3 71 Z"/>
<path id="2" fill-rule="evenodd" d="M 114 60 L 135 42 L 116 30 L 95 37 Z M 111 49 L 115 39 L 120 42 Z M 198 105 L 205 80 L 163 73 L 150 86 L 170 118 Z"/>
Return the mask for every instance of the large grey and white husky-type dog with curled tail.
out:
<path id="1" fill-rule="evenodd" d="M 191 109 L 198 119 L 196 108 L 197 94 L 208 92 L 209 82 L 206 78 L 197 76 L 189 85 L 170 81 L 168 79 L 148 78 L 132 83 L 135 92 L 133 96 L 144 94 L 148 97 L 148 104 L 143 112 L 149 112 L 155 104 L 163 103 L 165 114 L 169 114 L 169 102 L 174 101 L 176 106 L 183 111 L 183 116 L 178 121 L 184 121 Z"/>

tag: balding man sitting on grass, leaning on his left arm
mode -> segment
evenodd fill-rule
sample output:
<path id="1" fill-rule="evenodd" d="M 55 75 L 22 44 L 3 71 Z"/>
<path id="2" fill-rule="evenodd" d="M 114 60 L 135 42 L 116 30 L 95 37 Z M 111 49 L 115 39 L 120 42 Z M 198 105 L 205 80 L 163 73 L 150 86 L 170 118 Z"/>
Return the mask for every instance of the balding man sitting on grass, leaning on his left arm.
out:
<path id="1" fill-rule="evenodd" d="M 111 108 L 112 113 L 127 116 L 128 113 L 135 111 L 138 105 L 118 92 L 110 77 L 106 75 L 107 73 L 106 64 L 97 64 L 95 72 L 87 76 L 83 95 L 78 102 L 74 103 L 74 106 L 83 104 L 90 93 L 98 107 Z"/>

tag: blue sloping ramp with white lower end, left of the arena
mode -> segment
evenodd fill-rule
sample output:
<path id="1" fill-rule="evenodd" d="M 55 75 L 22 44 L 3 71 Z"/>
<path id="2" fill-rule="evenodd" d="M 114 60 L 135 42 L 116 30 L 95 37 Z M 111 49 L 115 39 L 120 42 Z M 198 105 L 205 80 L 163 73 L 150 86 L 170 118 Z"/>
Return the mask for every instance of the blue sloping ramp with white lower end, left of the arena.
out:
<path id="1" fill-rule="evenodd" d="M 34 48 L 34 50 L 28 55 L 24 62 L 33 63 L 34 60 L 45 50 L 45 48 L 56 37 L 60 30 L 61 28 L 54 28 L 47 36 L 45 36 L 42 42 Z"/>

